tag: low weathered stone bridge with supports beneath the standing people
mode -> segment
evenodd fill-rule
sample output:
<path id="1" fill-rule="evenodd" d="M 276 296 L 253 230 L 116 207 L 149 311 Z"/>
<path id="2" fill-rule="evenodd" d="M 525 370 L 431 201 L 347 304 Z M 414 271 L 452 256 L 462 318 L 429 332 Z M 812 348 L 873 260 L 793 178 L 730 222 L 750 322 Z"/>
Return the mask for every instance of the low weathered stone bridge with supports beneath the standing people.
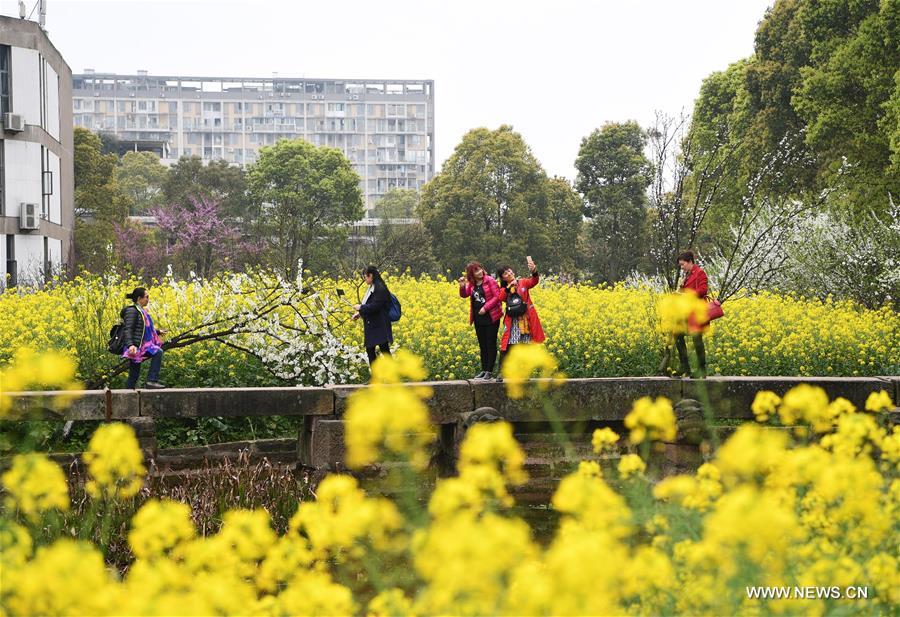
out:
<path id="1" fill-rule="evenodd" d="M 513 400 L 503 384 L 480 381 L 428 382 L 433 396 L 428 401 L 431 421 L 438 428 L 435 460 L 452 467 L 456 447 L 466 428 L 474 421 L 499 417 L 513 424 L 525 448 L 528 468 L 534 479 L 551 483 L 571 469 L 578 458 L 589 456 L 594 428 L 612 426 L 622 432 L 621 423 L 632 402 L 641 396 L 665 396 L 674 403 L 683 399 L 708 402 L 719 435 L 733 430 L 735 421 L 752 419 L 751 403 L 760 390 L 783 395 L 800 383 L 821 386 L 831 399 L 844 397 L 858 408 L 872 392 L 886 390 L 895 406 L 900 404 L 900 377 L 710 377 L 680 380 L 665 377 L 569 379 L 548 393 L 558 422 L 569 441 L 559 445 L 545 416 L 543 406 L 532 399 Z M 423 385 L 423 384 L 409 384 Z M 392 387 L 409 387 L 398 385 Z M 80 396 L 60 416 L 50 415 L 54 392 L 9 393 L 14 409 L 46 410 L 45 416 L 62 420 L 121 420 L 132 424 L 141 446 L 155 468 L 184 469 L 215 463 L 236 456 L 239 449 L 251 457 L 267 457 L 281 463 L 299 463 L 318 470 L 343 467 L 344 423 L 348 397 L 365 385 L 321 388 L 204 388 L 168 390 L 95 390 Z M 688 404 L 688 408 L 690 407 Z M 696 408 L 696 406 L 694 406 Z M 476 410 L 490 408 L 485 413 Z M 676 409 L 682 409 L 676 406 Z M 683 411 L 683 409 L 682 409 Z M 695 412 L 696 415 L 696 412 Z M 195 448 L 157 450 L 155 421 L 158 418 L 300 416 L 295 439 L 218 444 Z M 679 438 L 666 444 L 664 457 L 670 469 L 698 464 L 697 439 L 686 430 L 684 413 L 679 413 Z"/>

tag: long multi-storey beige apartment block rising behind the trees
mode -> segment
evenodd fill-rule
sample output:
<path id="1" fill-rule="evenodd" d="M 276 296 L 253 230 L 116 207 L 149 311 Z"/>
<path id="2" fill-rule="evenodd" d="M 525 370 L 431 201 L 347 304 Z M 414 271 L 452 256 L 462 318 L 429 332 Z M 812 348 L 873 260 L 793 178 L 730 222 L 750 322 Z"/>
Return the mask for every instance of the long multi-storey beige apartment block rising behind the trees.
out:
<path id="1" fill-rule="evenodd" d="M 434 82 L 306 78 L 73 76 L 74 123 L 153 150 L 246 165 L 279 139 L 344 152 L 371 209 L 434 175 Z"/>

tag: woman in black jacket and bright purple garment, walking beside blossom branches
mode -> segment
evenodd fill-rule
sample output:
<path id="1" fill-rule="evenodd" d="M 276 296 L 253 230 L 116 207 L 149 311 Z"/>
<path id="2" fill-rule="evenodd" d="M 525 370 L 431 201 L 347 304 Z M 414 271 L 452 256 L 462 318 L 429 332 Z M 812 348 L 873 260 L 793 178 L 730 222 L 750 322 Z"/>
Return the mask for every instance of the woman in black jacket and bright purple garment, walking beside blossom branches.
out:
<path id="1" fill-rule="evenodd" d="M 129 362 L 128 380 L 125 382 L 125 387 L 129 390 L 137 387 L 138 378 L 141 376 L 141 363 L 150 358 L 150 372 L 147 374 L 147 382 L 144 386 L 156 389 L 165 388 L 159 382 L 163 353 L 160 335 L 165 334 L 165 331 L 156 328 L 153 318 L 147 311 L 150 294 L 145 288 L 136 287 L 125 297 L 132 302 L 119 313 L 125 332 L 125 350 L 122 352 L 122 357 Z"/>

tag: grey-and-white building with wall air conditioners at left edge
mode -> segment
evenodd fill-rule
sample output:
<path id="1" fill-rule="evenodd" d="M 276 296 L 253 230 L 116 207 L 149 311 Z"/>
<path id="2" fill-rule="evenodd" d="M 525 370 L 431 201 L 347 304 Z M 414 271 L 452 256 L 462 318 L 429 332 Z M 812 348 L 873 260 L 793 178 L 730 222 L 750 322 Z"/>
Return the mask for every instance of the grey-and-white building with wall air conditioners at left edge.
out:
<path id="1" fill-rule="evenodd" d="M 0 15 L 0 286 L 72 263 L 72 71 L 33 21 Z"/>

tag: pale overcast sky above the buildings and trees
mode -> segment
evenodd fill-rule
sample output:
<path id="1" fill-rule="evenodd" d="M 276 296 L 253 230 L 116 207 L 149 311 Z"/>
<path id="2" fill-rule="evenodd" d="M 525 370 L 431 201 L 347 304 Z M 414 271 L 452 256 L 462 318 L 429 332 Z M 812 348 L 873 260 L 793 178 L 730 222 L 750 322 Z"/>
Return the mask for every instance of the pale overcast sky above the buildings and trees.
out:
<path id="1" fill-rule="evenodd" d="M 770 4 L 49 0 L 46 27 L 76 73 L 433 79 L 439 165 L 467 130 L 505 123 L 573 179 L 604 122 L 690 110 L 705 76 L 752 53 Z"/>

